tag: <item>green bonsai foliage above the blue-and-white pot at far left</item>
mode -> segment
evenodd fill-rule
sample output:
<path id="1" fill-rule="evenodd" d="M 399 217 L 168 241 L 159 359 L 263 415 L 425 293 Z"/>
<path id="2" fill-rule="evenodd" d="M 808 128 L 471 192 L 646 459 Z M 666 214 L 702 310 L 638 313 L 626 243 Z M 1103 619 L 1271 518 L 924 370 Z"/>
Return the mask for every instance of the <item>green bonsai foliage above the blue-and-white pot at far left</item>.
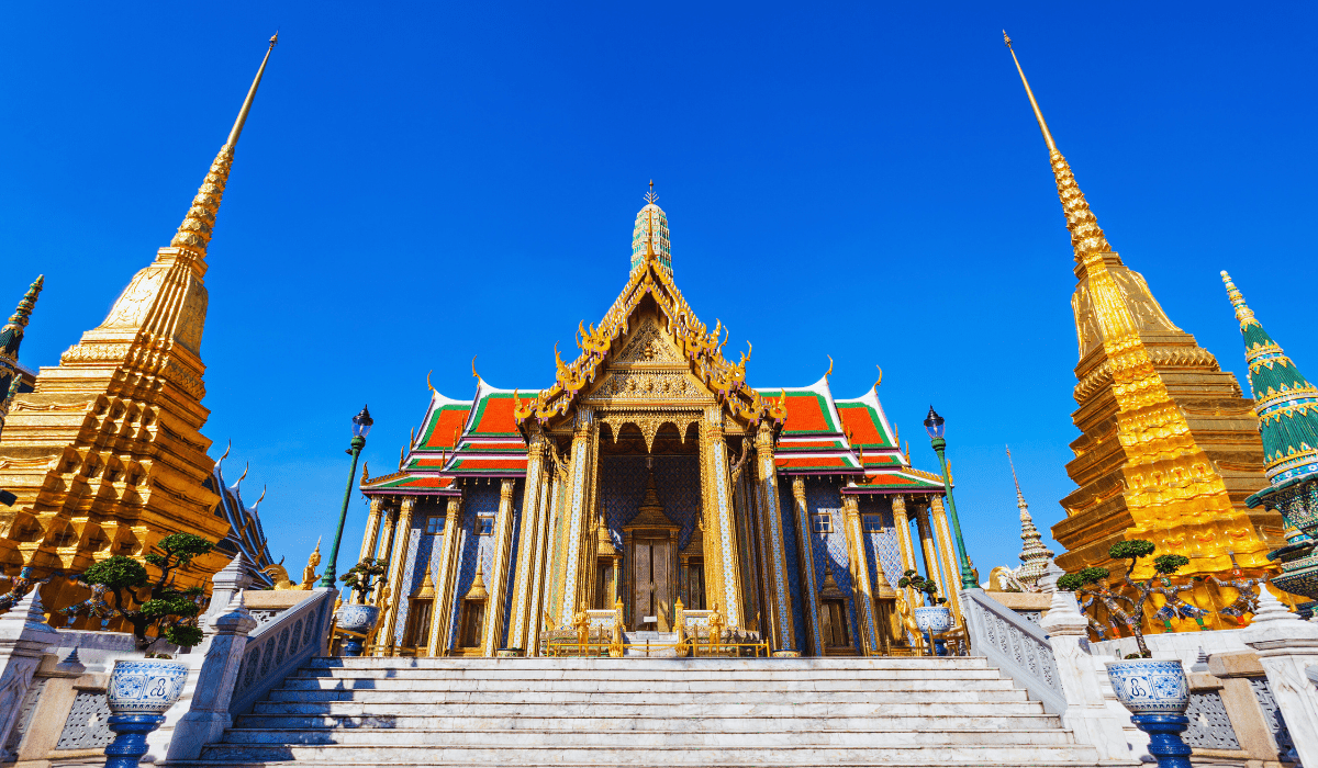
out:
<path id="1" fill-rule="evenodd" d="M 78 614 L 119 617 L 133 627 L 138 651 L 146 651 L 161 638 L 181 648 L 195 645 L 202 642 L 196 614 L 202 611 L 203 590 L 199 586 L 175 589 L 173 576 L 214 548 L 215 544 L 194 534 L 165 536 L 156 544 L 157 552 L 142 559 L 159 569 L 154 582 L 146 565 L 137 560 L 124 555 L 107 557 L 74 577 L 92 590 L 92 597 L 59 613 L 70 617 L 70 623 Z M 149 591 L 144 599 L 141 591 L 145 589 Z M 154 636 L 148 636 L 149 630 L 156 630 Z"/>

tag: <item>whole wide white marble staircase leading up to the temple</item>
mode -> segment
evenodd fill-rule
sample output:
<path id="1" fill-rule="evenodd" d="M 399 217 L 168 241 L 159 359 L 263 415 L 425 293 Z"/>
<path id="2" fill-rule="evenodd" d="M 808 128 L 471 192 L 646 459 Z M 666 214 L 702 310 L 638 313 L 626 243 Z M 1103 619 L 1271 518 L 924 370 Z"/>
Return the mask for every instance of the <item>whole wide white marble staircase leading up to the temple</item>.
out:
<path id="1" fill-rule="evenodd" d="M 1097 765 L 977 657 L 316 659 L 187 765 Z"/>

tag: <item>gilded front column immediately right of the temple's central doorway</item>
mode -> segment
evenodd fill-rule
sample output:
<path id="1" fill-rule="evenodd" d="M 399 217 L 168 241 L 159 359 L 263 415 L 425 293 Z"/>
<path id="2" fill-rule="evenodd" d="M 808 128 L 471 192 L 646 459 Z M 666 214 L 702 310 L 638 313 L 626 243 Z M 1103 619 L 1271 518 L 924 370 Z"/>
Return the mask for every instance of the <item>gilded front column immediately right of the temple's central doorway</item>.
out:
<path id="1" fill-rule="evenodd" d="M 724 411 L 720 406 L 705 410 L 705 418 L 700 422 L 700 443 L 704 469 L 706 470 L 701 472 L 701 477 L 708 478 L 704 483 L 706 526 L 710 520 L 714 522 L 713 531 L 706 530 L 705 536 L 713 535 L 717 543 L 718 591 L 722 594 L 720 607 L 726 620 L 724 626 L 728 628 L 741 627 L 741 568 L 737 562 L 739 552 L 737 524 L 733 520 L 733 494 L 728 483 L 728 441 L 724 440 Z"/>

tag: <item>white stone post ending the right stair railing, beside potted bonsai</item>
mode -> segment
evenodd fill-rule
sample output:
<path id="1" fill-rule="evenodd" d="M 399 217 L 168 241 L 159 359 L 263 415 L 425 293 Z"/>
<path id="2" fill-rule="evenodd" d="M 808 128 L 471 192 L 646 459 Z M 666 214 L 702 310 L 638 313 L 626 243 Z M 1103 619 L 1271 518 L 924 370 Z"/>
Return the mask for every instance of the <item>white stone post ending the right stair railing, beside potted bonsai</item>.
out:
<path id="1" fill-rule="evenodd" d="M 1122 730 L 1127 718 L 1108 707 L 1101 686 L 1098 660 L 1081 645 L 1087 639 L 1089 622 L 1079 613 L 1075 594 L 1053 591 L 1048 615 L 1039 627 L 1048 632 L 1048 643 L 1057 663 L 1057 678 L 1066 697 L 1062 725 L 1075 734 L 1075 740 L 1098 750 L 1101 760 L 1136 757 Z"/>

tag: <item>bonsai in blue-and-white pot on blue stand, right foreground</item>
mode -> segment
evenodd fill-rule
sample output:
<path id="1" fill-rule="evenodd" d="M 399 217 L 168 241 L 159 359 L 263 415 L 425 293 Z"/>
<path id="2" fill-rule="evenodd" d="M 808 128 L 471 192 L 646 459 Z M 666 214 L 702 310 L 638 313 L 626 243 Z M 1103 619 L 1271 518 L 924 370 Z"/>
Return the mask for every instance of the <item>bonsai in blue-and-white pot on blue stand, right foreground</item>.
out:
<path id="1" fill-rule="evenodd" d="M 1116 698 L 1131 711 L 1131 721 L 1149 734 L 1149 752 L 1160 764 L 1178 765 L 1182 764 L 1178 759 L 1190 754 L 1178 735 L 1189 726 L 1185 710 L 1190 703 L 1190 685 L 1178 659 L 1153 659 L 1144 643 L 1141 623 L 1149 595 L 1161 591 L 1169 577 L 1189 565 L 1190 559 L 1184 555 L 1159 555 L 1153 559 L 1153 574 L 1149 578 L 1131 578 L 1140 557 L 1148 557 L 1153 552 L 1153 543 L 1144 539 L 1118 541 L 1107 551 L 1112 560 L 1130 560 L 1122 580 L 1136 594 L 1135 598 L 1112 591 L 1107 584 L 1111 573 L 1097 566 L 1062 576 L 1057 580 L 1057 589 L 1097 597 L 1131 628 L 1140 652 L 1119 661 L 1108 661 L 1107 677 Z M 1119 602 L 1127 603 L 1130 613 L 1116 607 Z"/>

